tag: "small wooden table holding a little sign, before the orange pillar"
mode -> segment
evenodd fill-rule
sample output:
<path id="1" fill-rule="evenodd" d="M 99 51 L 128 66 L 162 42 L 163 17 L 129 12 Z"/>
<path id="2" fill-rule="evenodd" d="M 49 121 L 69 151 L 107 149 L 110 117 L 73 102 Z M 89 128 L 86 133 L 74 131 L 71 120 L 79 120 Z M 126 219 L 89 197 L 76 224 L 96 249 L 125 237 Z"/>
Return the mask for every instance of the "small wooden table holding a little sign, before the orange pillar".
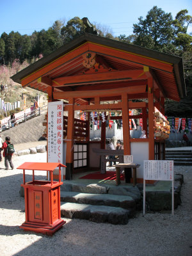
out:
<path id="1" fill-rule="evenodd" d="M 135 164 L 135 163 L 119 163 L 113 165 L 116 168 L 116 186 L 118 186 L 120 182 L 120 169 L 125 168 L 125 182 L 129 183 L 131 179 L 131 168 L 132 168 L 132 174 L 133 174 L 133 186 L 136 185 L 136 180 L 137 180 L 137 171 L 136 168 L 140 167 L 140 164 Z"/>

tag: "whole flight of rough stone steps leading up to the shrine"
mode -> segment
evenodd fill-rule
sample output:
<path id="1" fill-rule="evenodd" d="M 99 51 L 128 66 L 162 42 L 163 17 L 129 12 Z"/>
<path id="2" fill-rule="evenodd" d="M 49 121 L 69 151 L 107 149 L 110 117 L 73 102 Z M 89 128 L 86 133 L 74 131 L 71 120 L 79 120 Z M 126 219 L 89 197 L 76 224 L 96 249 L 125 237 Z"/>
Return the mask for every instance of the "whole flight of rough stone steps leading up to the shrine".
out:
<path id="1" fill-rule="evenodd" d="M 141 198 L 137 187 L 75 182 L 61 186 L 61 216 L 112 224 L 127 224 L 134 216 Z"/>

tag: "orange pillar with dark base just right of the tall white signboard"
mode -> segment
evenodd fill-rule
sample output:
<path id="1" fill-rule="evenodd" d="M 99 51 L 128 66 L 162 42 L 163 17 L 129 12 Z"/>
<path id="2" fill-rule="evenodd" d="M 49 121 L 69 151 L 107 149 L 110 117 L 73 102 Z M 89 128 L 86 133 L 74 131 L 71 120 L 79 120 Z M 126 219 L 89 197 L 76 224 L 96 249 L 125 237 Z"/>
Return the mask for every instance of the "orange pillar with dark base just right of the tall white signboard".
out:
<path id="1" fill-rule="evenodd" d="M 68 100 L 68 122 L 67 122 L 67 152 L 66 152 L 66 175 L 65 179 L 72 179 L 74 161 L 74 99 Z"/>

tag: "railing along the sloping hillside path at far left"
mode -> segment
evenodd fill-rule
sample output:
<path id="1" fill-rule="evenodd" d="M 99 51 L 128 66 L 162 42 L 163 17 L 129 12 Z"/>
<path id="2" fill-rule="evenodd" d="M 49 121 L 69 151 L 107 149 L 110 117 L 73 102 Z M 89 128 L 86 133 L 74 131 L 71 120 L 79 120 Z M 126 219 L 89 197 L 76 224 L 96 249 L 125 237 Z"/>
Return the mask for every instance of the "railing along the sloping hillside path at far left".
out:
<path id="1" fill-rule="evenodd" d="M 10 116 L 8 116 L 0 121 L 0 132 L 6 131 L 6 129 L 10 129 L 22 122 L 26 122 L 37 115 L 41 115 L 45 111 L 47 111 L 47 105 L 42 108 L 33 109 L 33 107 L 31 107 L 26 109 L 26 111 L 22 110 L 19 113 L 15 113 L 15 119 L 12 120 Z"/>

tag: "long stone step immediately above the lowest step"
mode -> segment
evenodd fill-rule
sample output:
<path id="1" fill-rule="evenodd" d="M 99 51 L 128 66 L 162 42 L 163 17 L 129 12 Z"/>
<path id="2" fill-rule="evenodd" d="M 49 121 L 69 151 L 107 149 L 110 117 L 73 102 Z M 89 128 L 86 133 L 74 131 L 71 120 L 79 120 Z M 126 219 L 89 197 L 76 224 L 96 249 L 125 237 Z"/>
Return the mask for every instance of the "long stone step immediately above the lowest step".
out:
<path id="1" fill-rule="evenodd" d="M 121 207 L 123 209 L 131 209 L 132 215 L 136 210 L 136 202 L 131 196 L 87 194 L 72 191 L 61 191 L 60 195 L 62 202 Z"/>

